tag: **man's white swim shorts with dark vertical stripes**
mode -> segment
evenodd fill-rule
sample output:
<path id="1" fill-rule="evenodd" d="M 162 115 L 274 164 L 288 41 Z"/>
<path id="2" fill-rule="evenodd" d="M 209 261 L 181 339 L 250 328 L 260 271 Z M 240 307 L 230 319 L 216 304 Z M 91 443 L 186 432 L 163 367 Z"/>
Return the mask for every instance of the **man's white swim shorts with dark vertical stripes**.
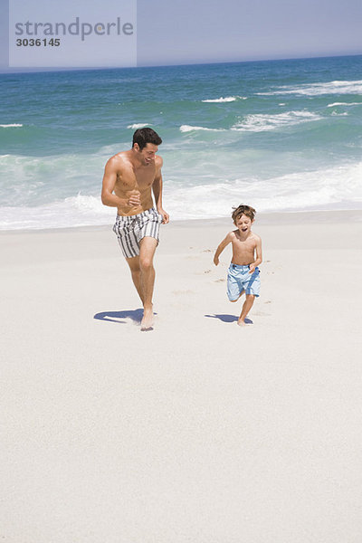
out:
<path id="1" fill-rule="evenodd" d="M 162 223 L 162 215 L 157 213 L 154 207 L 137 215 L 117 215 L 113 232 L 119 240 L 126 258 L 132 258 L 139 254 L 139 243 L 144 237 L 153 237 L 158 243 L 159 225 Z"/>

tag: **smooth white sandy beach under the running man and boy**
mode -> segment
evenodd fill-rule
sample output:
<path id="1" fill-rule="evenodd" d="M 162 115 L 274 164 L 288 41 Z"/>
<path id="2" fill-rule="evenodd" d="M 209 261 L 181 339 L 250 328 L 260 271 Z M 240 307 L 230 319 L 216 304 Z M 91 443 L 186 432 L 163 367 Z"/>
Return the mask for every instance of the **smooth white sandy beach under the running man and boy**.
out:
<path id="1" fill-rule="evenodd" d="M 6 543 L 360 543 L 362 212 L 167 224 L 155 329 L 111 227 L 0 233 Z"/>

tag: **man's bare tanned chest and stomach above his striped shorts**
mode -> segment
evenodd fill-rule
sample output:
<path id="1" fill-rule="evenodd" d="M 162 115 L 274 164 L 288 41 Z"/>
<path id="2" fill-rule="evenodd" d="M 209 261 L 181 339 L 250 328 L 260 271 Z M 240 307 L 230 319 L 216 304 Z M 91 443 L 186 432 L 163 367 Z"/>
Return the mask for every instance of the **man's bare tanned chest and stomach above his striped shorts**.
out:
<path id="1" fill-rule="evenodd" d="M 161 157 L 156 157 L 145 166 L 135 167 L 131 156 L 131 151 L 122 151 L 112 157 L 117 171 L 114 194 L 126 200 L 131 195 L 139 195 L 140 198 L 138 205 L 133 205 L 130 208 L 129 206 L 117 207 L 118 214 L 123 216 L 139 214 L 153 206 L 151 188 L 162 166 Z"/>

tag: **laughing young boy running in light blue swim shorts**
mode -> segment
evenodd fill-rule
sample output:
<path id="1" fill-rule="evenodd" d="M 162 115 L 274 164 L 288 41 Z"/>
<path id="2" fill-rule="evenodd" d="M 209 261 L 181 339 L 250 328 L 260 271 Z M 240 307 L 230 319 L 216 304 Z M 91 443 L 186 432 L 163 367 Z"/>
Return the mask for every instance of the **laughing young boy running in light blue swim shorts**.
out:
<path id="1" fill-rule="evenodd" d="M 214 254 L 214 264 L 219 263 L 219 256 L 229 243 L 233 245 L 233 258 L 227 274 L 227 295 L 230 301 L 237 301 L 245 292 L 242 313 L 238 325 L 250 324 L 245 321 L 252 309 L 255 296 L 259 296 L 260 279 L 258 265 L 262 263 L 262 240 L 252 233 L 255 209 L 250 205 L 233 207 L 233 224 L 237 230 L 229 232 Z"/>

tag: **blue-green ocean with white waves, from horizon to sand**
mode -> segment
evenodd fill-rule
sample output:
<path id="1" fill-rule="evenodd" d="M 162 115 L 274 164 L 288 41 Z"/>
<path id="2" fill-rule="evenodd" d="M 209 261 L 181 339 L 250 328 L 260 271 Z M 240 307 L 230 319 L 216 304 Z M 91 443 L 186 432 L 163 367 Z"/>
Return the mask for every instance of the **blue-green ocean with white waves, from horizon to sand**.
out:
<path id="1" fill-rule="evenodd" d="M 0 229 L 112 224 L 108 158 L 163 139 L 175 220 L 362 208 L 362 56 L 0 74 Z"/>

